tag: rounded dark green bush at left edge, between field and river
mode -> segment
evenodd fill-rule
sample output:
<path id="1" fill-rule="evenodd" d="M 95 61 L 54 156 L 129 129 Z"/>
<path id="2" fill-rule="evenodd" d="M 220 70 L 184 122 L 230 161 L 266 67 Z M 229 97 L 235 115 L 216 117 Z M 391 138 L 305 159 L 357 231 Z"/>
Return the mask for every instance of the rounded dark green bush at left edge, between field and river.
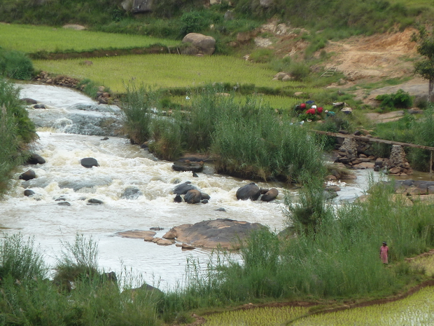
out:
<path id="1" fill-rule="evenodd" d="M 0 74 L 11 79 L 31 79 L 33 63 L 20 51 L 0 48 Z"/>

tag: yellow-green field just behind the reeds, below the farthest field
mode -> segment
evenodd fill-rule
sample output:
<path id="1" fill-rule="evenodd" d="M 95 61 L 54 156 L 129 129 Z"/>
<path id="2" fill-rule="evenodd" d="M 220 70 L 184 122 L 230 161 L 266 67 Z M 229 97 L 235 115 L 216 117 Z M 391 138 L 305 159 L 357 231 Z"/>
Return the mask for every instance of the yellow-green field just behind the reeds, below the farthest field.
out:
<path id="1" fill-rule="evenodd" d="M 92 79 L 115 93 L 125 92 L 123 84 L 132 79 L 135 83 L 157 88 L 196 87 L 221 82 L 271 88 L 300 85 L 295 81 L 272 81 L 275 73 L 271 69 L 227 56 L 125 55 L 92 58 L 93 64 L 89 66 L 81 62 L 83 59 L 34 60 L 34 67 L 53 74 Z"/>

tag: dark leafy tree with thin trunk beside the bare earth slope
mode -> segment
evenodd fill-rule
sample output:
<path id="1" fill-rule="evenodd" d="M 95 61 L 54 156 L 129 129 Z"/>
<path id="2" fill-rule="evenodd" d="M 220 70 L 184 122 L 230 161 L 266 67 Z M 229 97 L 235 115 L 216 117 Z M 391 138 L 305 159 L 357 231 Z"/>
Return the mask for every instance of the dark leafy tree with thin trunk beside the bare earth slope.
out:
<path id="1" fill-rule="evenodd" d="M 414 64 L 414 72 L 428 79 L 428 102 L 434 88 L 434 36 L 425 27 L 419 28 L 419 34 L 412 35 L 412 41 L 417 42 L 417 52 L 424 57 Z"/>

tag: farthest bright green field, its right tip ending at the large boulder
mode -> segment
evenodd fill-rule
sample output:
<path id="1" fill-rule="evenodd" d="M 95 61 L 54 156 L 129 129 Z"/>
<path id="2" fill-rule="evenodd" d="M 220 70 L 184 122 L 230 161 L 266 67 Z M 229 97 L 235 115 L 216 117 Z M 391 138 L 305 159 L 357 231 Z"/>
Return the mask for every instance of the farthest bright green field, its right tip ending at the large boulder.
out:
<path id="1" fill-rule="evenodd" d="M 77 31 L 46 26 L 0 24 L 0 46 L 25 53 L 83 52 L 97 49 L 139 48 L 160 43 L 176 46 L 179 41 L 150 36 Z"/>

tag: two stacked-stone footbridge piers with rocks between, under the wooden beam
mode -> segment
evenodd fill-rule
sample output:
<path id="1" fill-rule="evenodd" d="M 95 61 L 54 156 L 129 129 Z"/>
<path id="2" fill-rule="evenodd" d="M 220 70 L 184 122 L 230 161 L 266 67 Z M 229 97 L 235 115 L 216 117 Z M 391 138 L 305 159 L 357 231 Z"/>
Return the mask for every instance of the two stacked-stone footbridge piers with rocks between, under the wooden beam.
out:
<path id="1" fill-rule="evenodd" d="M 360 134 L 358 134 L 360 135 Z M 361 138 L 361 139 L 360 139 Z M 372 145 L 368 137 L 359 139 L 337 137 L 339 150 L 335 162 L 355 169 L 373 168 L 393 175 L 411 175 L 413 170 L 405 158 L 400 145 L 393 145 L 390 158 L 377 158 L 372 155 Z"/>

